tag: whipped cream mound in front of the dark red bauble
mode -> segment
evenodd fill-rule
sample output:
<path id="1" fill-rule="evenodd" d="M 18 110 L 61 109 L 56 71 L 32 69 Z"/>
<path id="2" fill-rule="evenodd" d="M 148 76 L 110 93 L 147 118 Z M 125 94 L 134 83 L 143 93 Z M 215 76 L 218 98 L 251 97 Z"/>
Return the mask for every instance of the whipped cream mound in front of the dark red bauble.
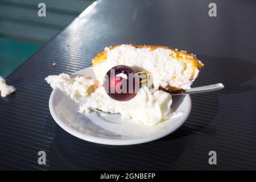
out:
<path id="1" fill-rule="evenodd" d="M 162 90 L 149 90 L 146 86 L 139 89 L 134 98 L 129 101 L 115 101 L 106 94 L 100 86 L 91 94 L 86 104 L 80 106 L 80 113 L 88 113 L 93 107 L 110 113 L 120 113 L 122 119 L 153 126 L 168 119 L 171 95 Z"/>

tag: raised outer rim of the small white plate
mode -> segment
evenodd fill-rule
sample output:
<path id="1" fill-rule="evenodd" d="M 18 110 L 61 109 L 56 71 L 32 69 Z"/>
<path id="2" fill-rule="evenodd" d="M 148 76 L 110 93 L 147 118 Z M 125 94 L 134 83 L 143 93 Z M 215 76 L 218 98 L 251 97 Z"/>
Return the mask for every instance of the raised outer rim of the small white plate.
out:
<path id="1" fill-rule="evenodd" d="M 75 73 L 72 73 L 72 75 L 77 75 L 77 73 L 85 71 L 86 69 L 81 69 L 80 71 L 77 71 Z M 68 126 L 64 121 L 62 121 L 56 114 L 54 106 L 53 106 L 53 95 L 55 94 L 56 89 L 53 89 L 51 92 L 51 95 L 49 97 L 49 111 L 52 115 L 52 118 L 54 121 L 65 131 L 67 131 L 69 134 L 80 138 L 82 140 L 86 140 L 88 142 L 93 142 L 93 143 L 98 143 L 98 144 L 109 144 L 109 145 L 116 145 L 116 146 L 121 146 L 121 145 L 130 145 L 130 144 L 140 144 L 140 143 L 146 143 L 146 142 L 151 142 L 153 140 L 157 140 L 163 137 L 166 137 L 167 135 L 173 133 L 177 129 L 179 129 L 180 126 L 184 124 L 185 121 L 187 121 L 187 118 L 189 114 L 191 113 L 191 107 L 192 107 L 192 101 L 191 97 L 189 94 L 187 94 L 184 98 L 187 98 L 188 100 L 188 111 L 183 114 L 183 117 L 180 118 L 179 122 L 175 125 L 175 127 L 169 128 L 167 130 L 164 130 L 162 133 L 147 136 L 147 137 L 142 137 L 138 139 L 109 139 L 109 138 L 101 138 L 101 137 L 94 137 L 91 135 L 87 135 L 84 133 L 81 133 L 72 127 Z"/>

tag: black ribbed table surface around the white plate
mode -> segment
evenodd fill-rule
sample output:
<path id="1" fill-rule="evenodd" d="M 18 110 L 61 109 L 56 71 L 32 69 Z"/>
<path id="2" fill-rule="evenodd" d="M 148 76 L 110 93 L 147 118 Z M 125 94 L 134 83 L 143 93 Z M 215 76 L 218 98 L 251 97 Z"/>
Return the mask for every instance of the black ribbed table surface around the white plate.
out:
<path id="1" fill-rule="evenodd" d="M 86 9 L 7 78 L 16 93 L 0 98 L 0 169 L 256 169 L 256 1 L 215 0 L 217 17 L 208 15 L 210 2 L 113 0 Z M 122 43 L 194 53 L 205 66 L 193 86 L 225 89 L 191 96 L 184 125 L 153 142 L 73 137 L 49 113 L 44 78 L 90 67 L 98 52 Z M 46 165 L 38 164 L 42 150 Z M 209 151 L 217 165 L 209 165 Z"/>

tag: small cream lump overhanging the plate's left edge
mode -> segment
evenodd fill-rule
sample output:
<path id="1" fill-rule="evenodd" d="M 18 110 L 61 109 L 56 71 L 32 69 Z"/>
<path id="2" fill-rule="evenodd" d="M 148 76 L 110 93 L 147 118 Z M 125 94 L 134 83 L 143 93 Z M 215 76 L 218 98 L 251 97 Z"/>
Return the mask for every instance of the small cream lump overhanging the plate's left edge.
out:
<path id="1" fill-rule="evenodd" d="M 71 96 L 71 99 L 78 102 L 76 96 L 88 96 L 92 92 L 95 81 L 91 78 L 76 76 L 71 78 L 68 74 L 49 75 L 45 78 L 52 89 L 59 88 Z"/>

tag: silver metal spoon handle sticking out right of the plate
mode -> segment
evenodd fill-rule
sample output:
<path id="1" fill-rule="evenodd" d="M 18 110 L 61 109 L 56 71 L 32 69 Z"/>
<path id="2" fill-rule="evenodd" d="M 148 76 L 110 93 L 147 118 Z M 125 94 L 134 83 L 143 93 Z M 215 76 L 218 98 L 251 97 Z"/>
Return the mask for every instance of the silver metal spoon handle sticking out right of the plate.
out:
<path id="1" fill-rule="evenodd" d="M 223 88 L 224 88 L 224 85 L 221 84 L 221 83 L 218 83 L 218 84 L 212 84 L 212 85 L 207 85 L 207 86 L 195 87 L 195 88 L 186 90 L 184 93 L 172 94 L 172 96 L 181 95 L 181 94 L 195 94 L 195 93 L 213 92 L 213 91 L 220 90 L 220 89 L 223 89 Z"/>

